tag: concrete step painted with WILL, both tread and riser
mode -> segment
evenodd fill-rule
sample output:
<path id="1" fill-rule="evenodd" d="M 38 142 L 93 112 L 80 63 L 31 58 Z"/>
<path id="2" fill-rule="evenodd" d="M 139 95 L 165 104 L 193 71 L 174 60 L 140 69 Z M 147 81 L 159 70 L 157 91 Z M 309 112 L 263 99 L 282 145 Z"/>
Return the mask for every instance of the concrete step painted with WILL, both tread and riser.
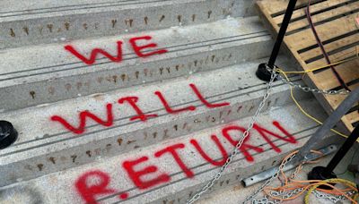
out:
<path id="1" fill-rule="evenodd" d="M 0 186 L 253 115 L 267 87 L 255 76 L 263 61 L 0 114 L 19 132 L 0 152 Z M 264 109 L 288 102 L 288 86 L 276 81 Z"/>

